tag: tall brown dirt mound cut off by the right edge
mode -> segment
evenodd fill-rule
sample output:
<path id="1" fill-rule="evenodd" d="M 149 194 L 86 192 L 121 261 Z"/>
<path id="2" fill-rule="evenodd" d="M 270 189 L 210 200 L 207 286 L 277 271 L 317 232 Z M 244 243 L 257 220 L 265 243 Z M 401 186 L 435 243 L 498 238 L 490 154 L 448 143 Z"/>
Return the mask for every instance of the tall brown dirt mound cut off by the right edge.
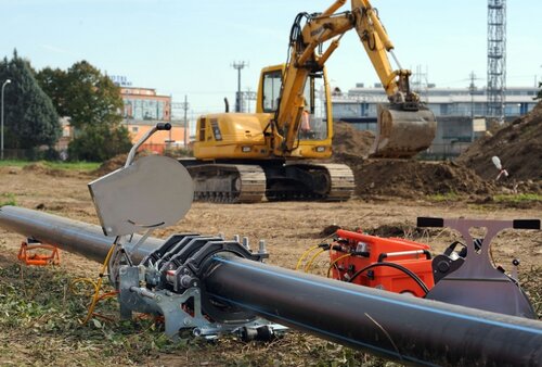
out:
<path id="1" fill-rule="evenodd" d="M 494 136 L 476 141 L 457 163 L 485 179 L 495 179 L 499 170 L 491 162 L 494 155 L 508 172 L 508 180 L 542 180 L 542 102 Z"/>

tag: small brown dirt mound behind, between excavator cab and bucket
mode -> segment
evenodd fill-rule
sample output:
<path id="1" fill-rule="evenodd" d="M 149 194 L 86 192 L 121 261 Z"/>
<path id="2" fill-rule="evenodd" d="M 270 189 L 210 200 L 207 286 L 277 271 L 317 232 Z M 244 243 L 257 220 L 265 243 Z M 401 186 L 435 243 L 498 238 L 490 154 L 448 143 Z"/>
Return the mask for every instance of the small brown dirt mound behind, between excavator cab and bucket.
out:
<path id="1" fill-rule="evenodd" d="M 371 131 L 361 131 L 351 124 L 337 122 L 334 124 L 333 153 L 363 157 L 374 140 Z"/>

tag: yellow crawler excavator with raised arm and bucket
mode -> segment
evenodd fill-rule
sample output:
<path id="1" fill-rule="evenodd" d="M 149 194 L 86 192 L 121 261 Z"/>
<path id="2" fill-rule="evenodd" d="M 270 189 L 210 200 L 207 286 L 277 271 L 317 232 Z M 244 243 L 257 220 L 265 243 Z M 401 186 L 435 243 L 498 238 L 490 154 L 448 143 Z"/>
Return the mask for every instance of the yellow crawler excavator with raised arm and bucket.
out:
<path id="1" fill-rule="evenodd" d="M 287 62 L 261 71 L 256 113 L 227 112 L 197 119 L 195 159 L 181 160 L 193 178 L 196 201 L 351 197 L 351 169 L 318 162 L 332 155 L 333 117 L 324 64 L 351 29 L 357 30 L 389 99 L 378 106 L 370 155 L 412 157 L 430 145 L 435 116 L 410 90 L 411 72 L 392 69 L 388 53 L 393 55 L 393 45 L 376 10 L 367 0 L 351 0 L 351 11 L 338 13 L 345 2 L 337 0 L 323 13 L 297 15 Z"/>

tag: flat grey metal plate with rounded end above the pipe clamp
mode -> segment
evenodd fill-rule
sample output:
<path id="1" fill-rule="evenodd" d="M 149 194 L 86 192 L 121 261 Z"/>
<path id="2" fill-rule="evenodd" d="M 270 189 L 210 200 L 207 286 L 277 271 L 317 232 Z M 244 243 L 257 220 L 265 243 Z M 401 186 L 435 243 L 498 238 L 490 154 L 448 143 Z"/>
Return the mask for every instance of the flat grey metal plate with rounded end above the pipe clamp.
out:
<path id="1" fill-rule="evenodd" d="M 141 157 L 88 186 L 105 236 L 175 225 L 194 198 L 188 170 L 160 155 Z"/>

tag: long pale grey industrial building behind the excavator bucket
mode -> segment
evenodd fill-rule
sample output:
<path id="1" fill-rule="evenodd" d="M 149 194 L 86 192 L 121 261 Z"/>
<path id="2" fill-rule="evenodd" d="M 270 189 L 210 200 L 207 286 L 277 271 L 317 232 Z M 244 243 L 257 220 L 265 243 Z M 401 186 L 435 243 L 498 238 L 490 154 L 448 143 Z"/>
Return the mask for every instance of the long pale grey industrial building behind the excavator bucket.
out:
<path id="1" fill-rule="evenodd" d="M 485 88 L 437 88 L 429 84 L 417 92 L 438 122 L 437 136 L 428 155 L 459 155 L 476 137 L 486 132 L 490 118 L 486 118 L 489 114 Z M 533 99 L 537 93 L 535 87 L 507 87 L 505 119 L 512 121 L 531 111 L 537 104 Z M 386 102 L 386 93 L 379 84 L 372 87 L 358 84 L 346 93 L 335 89 L 332 97 L 333 117 L 334 121 L 351 123 L 358 129 L 375 130 L 377 104 Z"/>

